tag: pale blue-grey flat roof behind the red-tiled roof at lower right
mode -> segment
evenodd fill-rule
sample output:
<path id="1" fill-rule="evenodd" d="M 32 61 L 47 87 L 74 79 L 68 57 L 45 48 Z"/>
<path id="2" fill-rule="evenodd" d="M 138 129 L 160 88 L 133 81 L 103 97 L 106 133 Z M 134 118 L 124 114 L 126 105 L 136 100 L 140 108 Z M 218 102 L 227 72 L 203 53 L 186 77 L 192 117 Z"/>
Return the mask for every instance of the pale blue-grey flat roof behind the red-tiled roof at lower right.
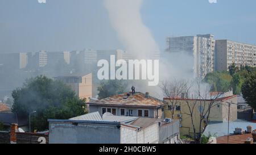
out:
<path id="1" fill-rule="evenodd" d="M 230 122 L 229 123 L 229 133 L 234 133 L 236 128 L 242 128 L 243 131 L 245 131 L 246 127 L 248 125 L 251 125 L 253 130 L 256 129 L 256 123 L 252 123 L 252 122 Z M 214 135 L 216 137 L 221 137 L 221 136 L 228 135 L 228 122 L 209 124 L 206 127 L 203 135 L 208 136 L 209 133 L 212 136 Z"/>

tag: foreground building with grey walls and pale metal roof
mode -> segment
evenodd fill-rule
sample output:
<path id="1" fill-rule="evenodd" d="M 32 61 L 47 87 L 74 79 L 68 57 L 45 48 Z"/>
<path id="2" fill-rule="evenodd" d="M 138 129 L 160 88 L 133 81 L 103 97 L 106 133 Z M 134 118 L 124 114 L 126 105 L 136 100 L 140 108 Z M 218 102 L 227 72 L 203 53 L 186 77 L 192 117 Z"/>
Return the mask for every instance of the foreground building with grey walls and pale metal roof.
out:
<path id="1" fill-rule="evenodd" d="M 179 121 L 99 112 L 71 118 L 49 119 L 50 144 L 158 144 L 180 143 Z"/>

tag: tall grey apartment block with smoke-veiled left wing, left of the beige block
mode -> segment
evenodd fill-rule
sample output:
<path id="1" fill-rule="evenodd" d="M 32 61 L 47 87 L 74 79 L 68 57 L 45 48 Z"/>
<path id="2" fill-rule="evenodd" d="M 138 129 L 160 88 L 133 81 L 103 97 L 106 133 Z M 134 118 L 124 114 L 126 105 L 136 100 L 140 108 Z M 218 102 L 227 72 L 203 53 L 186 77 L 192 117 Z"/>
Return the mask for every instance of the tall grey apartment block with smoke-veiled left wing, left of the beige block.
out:
<path id="1" fill-rule="evenodd" d="M 184 52 L 193 57 L 194 77 L 204 78 L 214 71 L 215 40 L 213 35 L 167 37 L 167 52 Z M 191 61 L 192 62 L 192 61 Z"/>

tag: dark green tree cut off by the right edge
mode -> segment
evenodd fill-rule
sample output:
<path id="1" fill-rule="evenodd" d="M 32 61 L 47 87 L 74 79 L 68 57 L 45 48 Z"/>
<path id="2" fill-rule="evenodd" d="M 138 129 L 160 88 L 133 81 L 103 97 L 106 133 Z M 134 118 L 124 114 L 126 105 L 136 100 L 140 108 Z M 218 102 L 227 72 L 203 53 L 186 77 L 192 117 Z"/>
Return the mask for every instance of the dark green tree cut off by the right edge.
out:
<path id="1" fill-rule="evenodd" d="M 250 74 L 242 85 L 242 94 L 246 102 L 256 108 L 256 72 Z"/>

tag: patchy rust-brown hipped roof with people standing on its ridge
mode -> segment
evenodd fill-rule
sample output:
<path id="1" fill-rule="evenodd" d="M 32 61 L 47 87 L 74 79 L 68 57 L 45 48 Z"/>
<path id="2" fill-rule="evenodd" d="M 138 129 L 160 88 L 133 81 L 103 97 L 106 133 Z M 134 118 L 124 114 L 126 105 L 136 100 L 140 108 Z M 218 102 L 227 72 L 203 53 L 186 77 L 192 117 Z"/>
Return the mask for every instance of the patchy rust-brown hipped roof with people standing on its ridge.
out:
<path id="1" fill-rule="evenodd" d="M 135 93 L 132 95 L 119 94 L 112 97 L 94 100 L 87 104 L 105 105 L 105 106 L 134 106 L 134 107 L 160 107 L 163 105 L 162 100 L 154 97 L 146 97 L 143 93 Z"/>

